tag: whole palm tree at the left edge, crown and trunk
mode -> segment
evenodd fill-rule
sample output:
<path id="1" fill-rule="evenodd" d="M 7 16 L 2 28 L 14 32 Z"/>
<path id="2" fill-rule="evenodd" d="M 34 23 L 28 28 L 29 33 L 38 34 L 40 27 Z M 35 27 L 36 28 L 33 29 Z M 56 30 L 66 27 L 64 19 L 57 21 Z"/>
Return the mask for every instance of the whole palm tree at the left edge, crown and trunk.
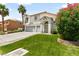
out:
<path id="1" fill-rule="evenodd" d="M 4 32 L 4 17 L 9 15 L 9 10 L 5 7 L 5 5 L 0 4 L 0 15 L 2 16 L 2 27 Z"/>

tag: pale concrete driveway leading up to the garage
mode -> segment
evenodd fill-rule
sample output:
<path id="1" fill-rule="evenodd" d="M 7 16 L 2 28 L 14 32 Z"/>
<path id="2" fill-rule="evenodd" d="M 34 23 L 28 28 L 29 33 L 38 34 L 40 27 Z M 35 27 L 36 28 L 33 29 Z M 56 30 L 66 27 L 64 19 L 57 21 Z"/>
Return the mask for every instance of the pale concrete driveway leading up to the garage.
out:
<path id="1" fill-rule="evenodd" d="M 22 40 L 23 38 L 38 34 L 37 32 L 19 32 L 6 35 L 0 35 L 0 46 L 14 43 Z"/>

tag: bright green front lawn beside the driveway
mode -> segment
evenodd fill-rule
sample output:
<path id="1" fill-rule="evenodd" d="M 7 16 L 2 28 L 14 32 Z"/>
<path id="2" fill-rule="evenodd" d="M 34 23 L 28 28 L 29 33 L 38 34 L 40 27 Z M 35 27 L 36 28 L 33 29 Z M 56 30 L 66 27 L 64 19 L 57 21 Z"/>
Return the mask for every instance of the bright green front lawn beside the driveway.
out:
<path id="1" fill-rule="evenodd" d="M 17 48 L 27 49 L 27 56 L 70 56 L 79 55 L 79 47 L 64 46 L 57 42 L 58 36 L 38 34 L 24 40 L 0 47 L 0 53 L 5 54 Z"/>

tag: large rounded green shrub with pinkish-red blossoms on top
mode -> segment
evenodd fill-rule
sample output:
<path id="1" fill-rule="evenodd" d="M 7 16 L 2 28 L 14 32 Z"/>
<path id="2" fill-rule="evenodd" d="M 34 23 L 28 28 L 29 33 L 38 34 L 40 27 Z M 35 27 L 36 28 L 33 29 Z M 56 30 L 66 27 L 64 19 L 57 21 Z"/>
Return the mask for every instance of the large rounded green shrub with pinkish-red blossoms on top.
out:
<path id="1" fill-rule="evenodd" d="M 79 40 L 79 4 L 68 4 L 57 14 L 57 29 L 60 37 L 66 40 Z"/>

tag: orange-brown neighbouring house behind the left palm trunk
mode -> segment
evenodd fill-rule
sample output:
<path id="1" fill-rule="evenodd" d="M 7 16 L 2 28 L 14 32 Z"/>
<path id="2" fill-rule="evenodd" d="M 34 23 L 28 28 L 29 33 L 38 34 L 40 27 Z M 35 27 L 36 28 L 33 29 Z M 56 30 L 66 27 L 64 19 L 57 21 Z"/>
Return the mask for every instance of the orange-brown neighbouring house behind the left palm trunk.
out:
<path id="1" fill-rule="evenodd" d="M 20 21 L 17 20 L 5 20 L 4 21 L 4 30 L 11 31 L 16 29 L 22 29 L 23 25 Z M 2 30 L 2 22 L 0 22 L 0 29 Z"/>

